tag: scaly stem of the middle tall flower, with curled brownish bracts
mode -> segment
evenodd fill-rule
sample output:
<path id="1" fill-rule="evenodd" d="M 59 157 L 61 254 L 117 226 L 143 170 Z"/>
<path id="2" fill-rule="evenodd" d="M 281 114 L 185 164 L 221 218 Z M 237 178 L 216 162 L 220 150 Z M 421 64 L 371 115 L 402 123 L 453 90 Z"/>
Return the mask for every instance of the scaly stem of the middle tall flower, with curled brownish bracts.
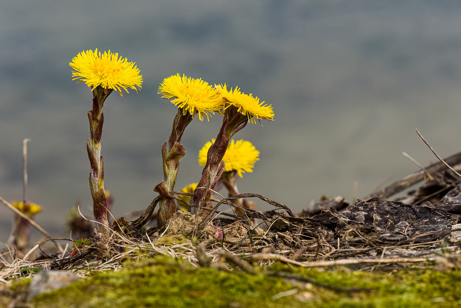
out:
<path id="1" fill-rule="evenodd" d="M 176 212 L 176 202 L 169 192 L 174 191 L 179 161 L 186 154 L 186 150 L 181 144 L 181 137 L 190 121 L 192 121 L 192 115 L 189 112 L 184 114 L 183 109 L 178 108 L 170 138 L 162 146 L 163 182 L 154 189 L 163 198 L 159 202 L 160 209 L 157 214 L 157 227 L 159 229 L 164 227 Z"/>

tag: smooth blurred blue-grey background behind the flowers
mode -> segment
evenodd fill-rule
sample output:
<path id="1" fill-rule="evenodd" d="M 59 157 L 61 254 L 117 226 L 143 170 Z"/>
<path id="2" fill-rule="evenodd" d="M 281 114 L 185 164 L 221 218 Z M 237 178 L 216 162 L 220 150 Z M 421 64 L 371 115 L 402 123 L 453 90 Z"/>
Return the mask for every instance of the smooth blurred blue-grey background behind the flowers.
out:
<path id="1" fill-rule="evenodd" d="M 77 202 L 92 217 L 92 94 L 71 80 L 69 62 L 98 48 L 136 62 L 144 78 L 138 94 L 113 92 L 103 109 L 105 183 L 117 218 L 157 195 L 160 149 L 177 112 L 157 89 L 176 73 L 272 104 L 275 121 L 234 136 L 261 152 L 240 192 L 294 212 L 322 195 L 354 201 L 418 170 L 402 151 L 424 166 L 436 160 L 415 128 L 442 157 L 460 151 L 460 29 L 454 0 L 2 1 L 0 196 L 21 201 L 22 141 L 30 138 L 28 200 L 43 207 L 35 220 L 61 236 Z M 221 121 L 188 126 L 177 190 L 200 179 L 198 152 Z M 0 205 L 0 242 L 12 216 Z"/>

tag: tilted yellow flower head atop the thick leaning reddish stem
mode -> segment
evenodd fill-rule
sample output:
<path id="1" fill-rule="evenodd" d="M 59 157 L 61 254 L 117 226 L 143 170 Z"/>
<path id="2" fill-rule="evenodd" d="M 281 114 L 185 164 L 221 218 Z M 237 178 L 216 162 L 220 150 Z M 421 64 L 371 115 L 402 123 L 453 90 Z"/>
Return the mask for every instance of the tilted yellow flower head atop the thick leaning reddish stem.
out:
<path id="1" fill-rule="evenodd" d="M 256 120 L 253 118 L 264 118 L 270 121 L 274 119 L 272 105 L 263 105 L 264 101 L 260 102 L 257 96 L 253 97 L 251 93 L 246 95 L 240 92 L 238 87 L 233 91 L 232 88 L 231 91 L 227 91 L 226 84 L 224 84 L 224 86 L 222 84 L 215 85 L 215 87 L 220 93 L 221 100 L 229 104 L 227 107 L 231 105 L 238 107 L 239 113 L 248 116 L 248 122 L 250 122 L 251 119 L 251 123 L 253 123 L 253 121 L 256 123 Z"/>

